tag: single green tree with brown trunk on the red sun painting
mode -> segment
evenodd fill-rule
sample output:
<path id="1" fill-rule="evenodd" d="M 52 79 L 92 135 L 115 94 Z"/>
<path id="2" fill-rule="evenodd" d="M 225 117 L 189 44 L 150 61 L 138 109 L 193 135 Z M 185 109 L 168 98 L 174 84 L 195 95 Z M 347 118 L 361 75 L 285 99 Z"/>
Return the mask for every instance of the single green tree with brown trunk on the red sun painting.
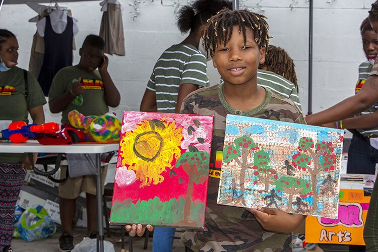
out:
<path id="1" fill-rule="evenodd" d="M 183 153 L 177 160 L 175 167 L 182 169 L 188 175 L 183 219 L 185 222 L 191 221 L 191 204 L 194 184 L 203 184 L 207 180 L 209 172 L 209 153 L 198 151 L 196 147 L 190 148 L 192 151 Z M 182 178 L 179 178 L 182 179 Z"/>

